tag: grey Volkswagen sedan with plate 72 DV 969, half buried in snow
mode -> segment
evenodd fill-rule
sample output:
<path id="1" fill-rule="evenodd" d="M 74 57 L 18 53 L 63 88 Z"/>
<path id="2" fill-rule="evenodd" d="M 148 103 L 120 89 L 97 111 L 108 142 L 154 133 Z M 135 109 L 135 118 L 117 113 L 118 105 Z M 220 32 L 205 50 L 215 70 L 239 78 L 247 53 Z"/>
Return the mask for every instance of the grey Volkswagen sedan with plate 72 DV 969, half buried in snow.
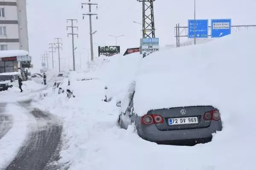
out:
<path id="1" fill-rule="evenodd" d="M 212 106 L 152 109 L 144 116 L 134 113 L 135 84 L 116 105 L 121 107 L 119 125 L 135 123 L 138 135 L 158 144 L 194 145 L 210 142 L 212 133 L 222 130 L 221 115 Z"/>

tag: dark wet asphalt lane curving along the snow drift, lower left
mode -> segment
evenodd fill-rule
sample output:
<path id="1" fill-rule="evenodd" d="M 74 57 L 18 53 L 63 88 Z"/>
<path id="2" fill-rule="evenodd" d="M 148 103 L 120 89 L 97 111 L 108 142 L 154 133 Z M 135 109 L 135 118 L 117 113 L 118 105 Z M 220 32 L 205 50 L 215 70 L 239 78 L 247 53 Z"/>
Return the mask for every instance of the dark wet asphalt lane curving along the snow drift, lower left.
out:
<path id="1" fill-rule="evenodd" d="M 30 102 L 19 104 L 29 107 Z M 35 117 L 38 128 L 32 130 L 15 159 L 5 170 L 67 170 L 68 166 L 56 163 L 60 159 L 62 125 L 49 113 L 38 109 L 32 109 L 30 113 Z M 9 118 L 3 116 L 3 119 Z M 7 132 L 5 130 L 0 134 Z"/>

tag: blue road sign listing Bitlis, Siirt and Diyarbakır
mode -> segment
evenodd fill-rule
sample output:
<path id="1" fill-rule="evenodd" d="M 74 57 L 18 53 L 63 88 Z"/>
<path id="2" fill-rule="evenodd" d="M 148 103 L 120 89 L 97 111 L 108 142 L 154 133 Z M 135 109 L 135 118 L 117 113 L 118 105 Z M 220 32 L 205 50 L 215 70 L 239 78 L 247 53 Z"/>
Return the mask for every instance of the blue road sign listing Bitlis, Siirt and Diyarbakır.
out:
<path id="1" fill-rule="evenodd" d="M 188 20 L 188 38 L 208 38 L 208 20 Z"/>

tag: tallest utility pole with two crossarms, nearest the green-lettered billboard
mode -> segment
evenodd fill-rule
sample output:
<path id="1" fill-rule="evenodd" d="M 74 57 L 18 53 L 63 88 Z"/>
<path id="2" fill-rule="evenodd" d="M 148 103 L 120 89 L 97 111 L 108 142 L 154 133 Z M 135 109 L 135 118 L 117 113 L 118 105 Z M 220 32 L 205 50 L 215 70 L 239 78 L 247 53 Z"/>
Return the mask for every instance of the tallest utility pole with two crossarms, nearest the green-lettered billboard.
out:
<path id="1" fill-rule="evenodd" d="M 84 15 L 89 15 L 89 23 L 90 23 L 90 50 L 91 50 L 91 60 L 93 61 L 93 34 L 95 34 L 97 31 L 94 31 L 93 32 L 93 29 L 92 29 L 92 15 L 98 15 L 98 14 L 95 14 L 95 13 L 91 13 L 91 5 L 96 5 L 98 8 L 98 3 L 91 3 L 90 0 L 88 3 L 82 3 L 82 8 L 83 8 L 83 5 L 89 5 L 89 13 L 87 14 L 83 14 L 83 19 L 84 19 Z M 96 17 L 96 19 L 98 18 L 98 16 Z"/>

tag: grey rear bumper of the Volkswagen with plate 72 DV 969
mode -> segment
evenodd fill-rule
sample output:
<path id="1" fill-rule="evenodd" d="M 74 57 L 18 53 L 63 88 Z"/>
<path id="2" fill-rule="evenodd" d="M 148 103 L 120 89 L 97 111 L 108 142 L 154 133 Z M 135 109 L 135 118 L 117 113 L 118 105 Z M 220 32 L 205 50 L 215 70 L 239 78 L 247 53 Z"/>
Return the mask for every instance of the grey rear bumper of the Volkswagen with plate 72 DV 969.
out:
<path id="1" fill-rule="evenodd" d="M 222 130 L 222 123 L 211 122 L 207 128 L 187 129 L 187 130 L 158 130 L 156 125 L 140 125 L 137 132 L 140 137 L 151 142 L 168 142 L 189 139 L 212 138 L 212 133 Z"/>

